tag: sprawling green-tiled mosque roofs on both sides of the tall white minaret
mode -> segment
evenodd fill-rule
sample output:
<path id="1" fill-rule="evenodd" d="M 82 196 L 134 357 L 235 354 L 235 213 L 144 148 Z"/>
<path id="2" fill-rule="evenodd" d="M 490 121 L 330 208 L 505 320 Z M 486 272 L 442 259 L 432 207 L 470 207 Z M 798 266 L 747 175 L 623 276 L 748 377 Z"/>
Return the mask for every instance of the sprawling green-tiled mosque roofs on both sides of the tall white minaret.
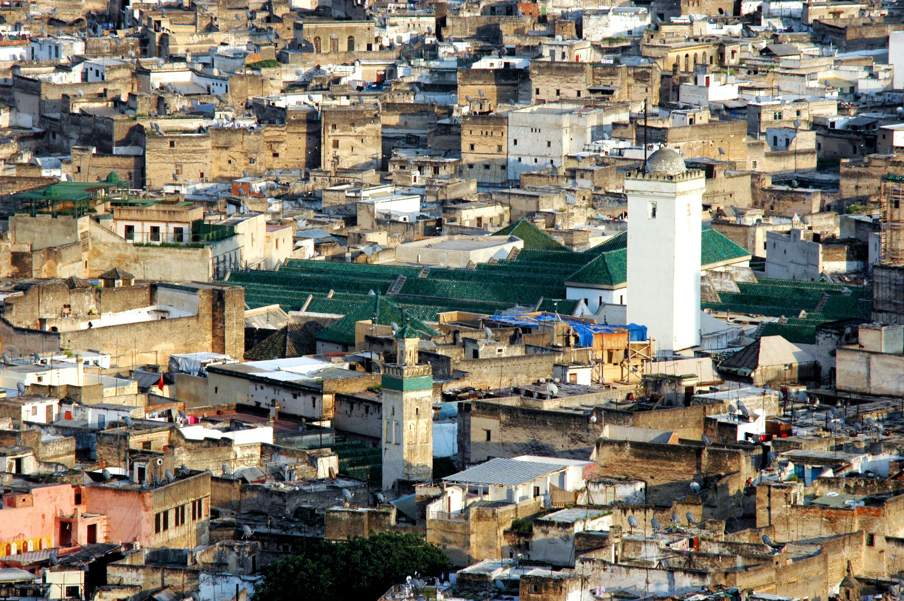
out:
<path id="1" fill-rule="evenodd" d="M 519 223 L 524 224 L 523 230 L 546 236 L 527 221 Z M 431 268 L 428 272 L 401 265 L 289 259 L 276 271 L 232 272 L 228 281 L 245 288 L 245 303 L 251 308 L 277 304 L 286 311 L 298 311 L 304 306 L 309 313 L 344 315 L 316 334 L 316 339 L 353 344 L 355 322 L 372 319 L 375 308 L 377 323 L 402 324 L 404 311 L 411 326 L 428 335 L 435 330 L 427 323 L 436 322 L 437 314 L 447 311 L 495 315 L 522 306 L 525 311 L 536 307 L 570 315 L 579 301 L 565 298 L 566 282 L 576 286 L 623 284 L 627 279 L 626 244 L 627 235 L 622 232 L 585 252 L 560 245 L 524 248 L 513 260 L 481 263 L 475 268 Z M 703 230 L 701 253 L 703 266 L 749 257 L 745 249 L 716 230 Z M 400 276 L 406 279 L 399 292 L 387 294 Z M 786 323 L 769 327 L 787 333 L 787 339 L 795 343 L 812 343 L 818 324 L 869 318 L 871 313 L 871 292 L 864 286 L 761 279 L 758 283 L 739 282 L 738 287 L 738 293 L 720 292 L 720 303 L 702 303 L 702 308 L 784 316 Z M 825 301 L 820 303 L 824 294 Z M 806 315 L 800 318 L 802 311 Z"/>

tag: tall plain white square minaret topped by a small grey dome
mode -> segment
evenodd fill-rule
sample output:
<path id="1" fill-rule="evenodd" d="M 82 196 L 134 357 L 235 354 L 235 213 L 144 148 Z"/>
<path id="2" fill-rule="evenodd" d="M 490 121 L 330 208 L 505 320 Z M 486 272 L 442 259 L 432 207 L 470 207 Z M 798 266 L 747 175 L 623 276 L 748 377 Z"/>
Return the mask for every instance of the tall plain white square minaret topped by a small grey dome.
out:
<path id="1" fill-rule="evenodd" d="M 657 351 L 700 344 L 701 211 L 706 178 L 660 148 L 625 174 L 627 321 L 645 325 Z"/>

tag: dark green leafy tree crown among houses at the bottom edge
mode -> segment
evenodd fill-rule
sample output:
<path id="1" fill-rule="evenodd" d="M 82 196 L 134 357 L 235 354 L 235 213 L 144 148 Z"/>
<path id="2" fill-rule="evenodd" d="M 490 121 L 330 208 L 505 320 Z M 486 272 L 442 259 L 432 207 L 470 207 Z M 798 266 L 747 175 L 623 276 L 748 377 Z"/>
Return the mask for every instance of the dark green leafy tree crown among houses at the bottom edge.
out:
<path id="1" fill-rule="evenodd" d="M 381 532 L 346 542 L 320 540 L 304 554 L 264 568 L 253 601 L 376 599 L 406 576 L 438 576 L 448 569 L 441 549 L 419 534 Z"/>

